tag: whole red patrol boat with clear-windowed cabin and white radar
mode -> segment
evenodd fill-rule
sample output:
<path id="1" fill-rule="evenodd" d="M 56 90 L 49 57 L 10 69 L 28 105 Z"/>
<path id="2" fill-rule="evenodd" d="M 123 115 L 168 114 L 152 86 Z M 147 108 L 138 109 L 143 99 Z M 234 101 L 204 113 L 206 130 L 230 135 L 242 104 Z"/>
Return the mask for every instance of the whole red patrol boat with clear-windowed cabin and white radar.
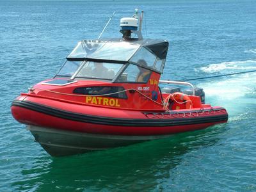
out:
<path id="1" fill-rule="evenodd" d="M 13 117 L 28 125 L 51 156 L 120 147 L 227 122 L 224 108 L 204 104 L 202 89 L 159 80 L 168 42 L 142 38 L 142 17 L 137 18 L 121 19 L 122 38 L 79 42 L 56 76 L 13 101 Z M 159 88 L 159 83 L 172 87 Z M 191 90 L 180 90 L 184 86 Z"/>

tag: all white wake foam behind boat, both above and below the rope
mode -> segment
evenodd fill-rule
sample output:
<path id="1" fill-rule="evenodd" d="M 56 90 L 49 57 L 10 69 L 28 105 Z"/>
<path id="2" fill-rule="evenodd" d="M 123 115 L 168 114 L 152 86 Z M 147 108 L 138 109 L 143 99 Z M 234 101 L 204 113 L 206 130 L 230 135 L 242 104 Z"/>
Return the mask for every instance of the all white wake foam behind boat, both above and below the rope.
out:
<path id="1" fill-rule="evenodd" d="M 214 63 L 208 67 L 200 68 L 205 72 L 242 72 L 244 70 L 256 70 L 256 61 L 231 61 Z M 237 74 L 234 76 L 218 77 L 211 81 L 202 81 L 197 84 L 204 88 L 206 102 L 212 105 L 224 106 L 234 113 L 247 102 L 255 102 L 256 72 Z"/>

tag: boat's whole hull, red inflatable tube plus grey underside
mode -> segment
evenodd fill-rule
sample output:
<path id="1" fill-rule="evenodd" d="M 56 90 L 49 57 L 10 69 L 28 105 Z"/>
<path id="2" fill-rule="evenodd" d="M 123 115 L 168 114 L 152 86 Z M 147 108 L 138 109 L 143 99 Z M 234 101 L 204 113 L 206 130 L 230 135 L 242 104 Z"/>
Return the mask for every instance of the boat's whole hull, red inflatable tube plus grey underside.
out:
<path id="1" fill-rule="evenodd" d="M 106 111 L 56 100 L 36 102 L 35 98 L 29 97 L 13 101 L 12 114 L 17 121 L 28 125 L 35 140 L 51 156 L 122 147 L 179 132 L 205 129 L 228 120 L 227 111 L 218 107 L 171 113 Z"/>

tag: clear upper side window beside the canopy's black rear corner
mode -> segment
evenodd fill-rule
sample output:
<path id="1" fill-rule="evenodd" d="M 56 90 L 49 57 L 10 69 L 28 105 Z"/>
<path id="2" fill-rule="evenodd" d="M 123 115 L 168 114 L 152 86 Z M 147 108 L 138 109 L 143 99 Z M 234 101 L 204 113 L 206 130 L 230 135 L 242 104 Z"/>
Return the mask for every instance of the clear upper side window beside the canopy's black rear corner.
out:
<path id="1" fill-rule="evenodd" d="M 156 61 L 156 56 L 152 54 L 152 52 L 148 51 L 148 49 L 145 47 L 141 47 L 140 50 L 137 51 L 134 56 L 132 56 L 130 61 L 138 63 L 139 65 L 147 65 L 147 67 L 153 67 Z"/>

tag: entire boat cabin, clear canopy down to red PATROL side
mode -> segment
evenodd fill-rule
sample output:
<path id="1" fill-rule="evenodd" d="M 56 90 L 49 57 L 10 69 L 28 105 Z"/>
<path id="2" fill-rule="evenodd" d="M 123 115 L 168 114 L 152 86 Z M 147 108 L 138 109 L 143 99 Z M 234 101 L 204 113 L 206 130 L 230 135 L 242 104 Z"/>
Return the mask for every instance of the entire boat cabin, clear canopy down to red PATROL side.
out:
<path id="1" fill-rule="evenodd" d="M 86 95 L 76 101 L 92 106 L 163 110 L 158 84 L 167 51 L 165 40 L 82 40 L 54 79 L 42 84 L 61 92 L 72 87 L 72 93 Z"/>

